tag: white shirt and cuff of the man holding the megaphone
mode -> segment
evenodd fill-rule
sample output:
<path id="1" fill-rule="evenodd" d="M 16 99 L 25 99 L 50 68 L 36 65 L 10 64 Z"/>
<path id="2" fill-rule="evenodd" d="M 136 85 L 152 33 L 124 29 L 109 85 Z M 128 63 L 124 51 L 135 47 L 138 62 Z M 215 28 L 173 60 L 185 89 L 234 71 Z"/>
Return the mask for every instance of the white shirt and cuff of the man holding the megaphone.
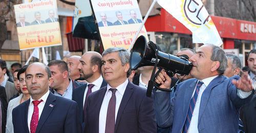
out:
<path id="1" fill-rule="evenodd" d="M 198 132 L 198 116 L 199 116 L 199 109 L 200 109 L 200 102 L 201 102 L 202 94 L 203 94 L 205 88 L 210 84 L 210 82 L 212 80 L 214 80 L 218 76 L 219 75 L 216 75 L 216 76 L 212 76 L 212 77 L 209 77 L 209 78 L 201 80 L 203 82 L 203 84 L 200 87 L 200 90 L 199 90 L 199 93 L 198 93 L 198 97 L 197 97 L 197 102 L 196 102 L 196 105 L 195 105 L 195 108 L 194 108 L 194 111 L 193 111 L 193 116 L 191 118 L 190 125 L 188 127 L 188 131 L 187 132 L 191 132 L 191 133 L 192 132 L 193 133 L 194 132 Z M 195 86 L 195 89 L 194 89 L 192 97 L 194 96 L 195 91 L 196 91 L 196 86 Z M 247 98 L 251 93 L 252 93 L 252 91 L 250 91 L 250 92 L 243 92 L 241 90 L 238 90 L 238 92 L 237 92 L 237 94 L 238 94 L 238 96 L 240 98 Z"/>

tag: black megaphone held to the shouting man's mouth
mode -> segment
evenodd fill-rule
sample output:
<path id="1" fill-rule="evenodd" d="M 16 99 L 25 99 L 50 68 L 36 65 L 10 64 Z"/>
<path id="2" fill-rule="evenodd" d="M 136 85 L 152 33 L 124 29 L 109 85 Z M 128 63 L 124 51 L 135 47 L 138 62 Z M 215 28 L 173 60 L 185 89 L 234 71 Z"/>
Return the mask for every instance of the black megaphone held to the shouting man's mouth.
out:
<path id="1" fill-rule="evenodd" d="M 158 55 L 156 55 L 156 50 L 152 47 L 153 45 L 155 45 L 154 42 L 146 42 L 146 38 L 142 35 L 137 38 L 130 56 L 130 66 L 132 70 L 136 70 L 141 66 L 154 66 L 156 61 L 158 61 L 157 66 L 164 70 L 178 74 L 189 74 L 193 66 L 191 62 L 185 58 L 166 54 L 161 51 L 158 51 Z M 156 56 L 158 60 L 156 60 Z"/>

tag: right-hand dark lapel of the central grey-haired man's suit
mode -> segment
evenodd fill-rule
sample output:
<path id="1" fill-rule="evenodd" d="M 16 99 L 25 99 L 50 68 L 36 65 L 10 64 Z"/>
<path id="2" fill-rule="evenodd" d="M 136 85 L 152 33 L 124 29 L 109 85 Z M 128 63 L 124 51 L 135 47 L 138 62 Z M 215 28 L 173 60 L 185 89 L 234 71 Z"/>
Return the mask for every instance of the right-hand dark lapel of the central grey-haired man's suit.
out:
<path id="1" fill-rule="evenodd" d="M 116 117 L 116 125 L 115 125 L 115 131 L 118 127 L 121 115 L 123 114 L 123 110 L 127 104 L 127 102 L 129 101 L 131 95 L 133 94 L 133 84 L 131 82 L 128 82 L 123 97 L 122 97 L 122 101 L 120 103 L 119 109 L 118 109 L 118 113 L 117 113 L 117 117 Z"/>

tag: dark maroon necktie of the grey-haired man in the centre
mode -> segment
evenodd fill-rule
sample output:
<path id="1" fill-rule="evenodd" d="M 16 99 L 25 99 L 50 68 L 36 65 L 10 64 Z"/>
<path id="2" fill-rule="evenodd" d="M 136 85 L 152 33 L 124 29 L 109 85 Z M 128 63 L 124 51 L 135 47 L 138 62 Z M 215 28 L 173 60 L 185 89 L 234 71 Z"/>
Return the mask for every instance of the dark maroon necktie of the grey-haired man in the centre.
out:
<path id="1" fill-rule="evenodd" d="M 110 88 L 112 96 L 110 98 L 108 112 L 106 113 L 105 133 L 114 133 L 115 131 L 115 113 L 116 113 L 116 88 Z"/>

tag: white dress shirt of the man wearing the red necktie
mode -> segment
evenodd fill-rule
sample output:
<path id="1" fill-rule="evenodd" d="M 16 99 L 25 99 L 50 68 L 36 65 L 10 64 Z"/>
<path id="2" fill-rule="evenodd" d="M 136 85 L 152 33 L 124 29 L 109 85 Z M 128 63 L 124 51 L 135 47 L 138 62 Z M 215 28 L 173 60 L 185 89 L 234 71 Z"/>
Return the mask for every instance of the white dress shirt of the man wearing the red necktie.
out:
<path id="1" fill-rule="evenodd" d="M 38 101 L 42 100 L 42 102 L 40 102 L 37 105 L 38 110 L 39 110 L 38 121 L 40 120 L 40 116 L 42 114 L 42 109 L 44 109 L 44 106 L 46 104 L 46 100 L 47 100 L 49 94 L 50 94 L 50 91 L 48 90 L 48 92 L 45 95 L 43 95 L 40 99 L 38 99 Z M 29 132 L 30 132 L 30 121 L 31 121 L 31 118 L 32 118 L 32 115 L 33 115 L 33 112 L 34 112 L 34 104 L 32 103 L 32 101 L 34 101 L 34 100 L 30 96 L 29 109 L 28 109 L 28 127 L 29 127 Z"/>

